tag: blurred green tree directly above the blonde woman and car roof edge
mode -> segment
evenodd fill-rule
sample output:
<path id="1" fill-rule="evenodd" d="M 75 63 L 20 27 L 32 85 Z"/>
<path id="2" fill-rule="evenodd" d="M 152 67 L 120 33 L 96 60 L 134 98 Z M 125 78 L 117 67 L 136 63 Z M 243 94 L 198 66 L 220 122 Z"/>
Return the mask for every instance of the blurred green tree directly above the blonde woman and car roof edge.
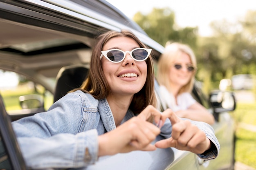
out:
<path id="1" fill-rule="evenodd" d="M 166 42 L 182 42 L 196 48 L 198 28 L 179 28 L 175 24 L 175 13 L 170 8 L 153 10 L 148 15 L 137 12 L 133 20 L 156 42 L 165 46 Z"/>

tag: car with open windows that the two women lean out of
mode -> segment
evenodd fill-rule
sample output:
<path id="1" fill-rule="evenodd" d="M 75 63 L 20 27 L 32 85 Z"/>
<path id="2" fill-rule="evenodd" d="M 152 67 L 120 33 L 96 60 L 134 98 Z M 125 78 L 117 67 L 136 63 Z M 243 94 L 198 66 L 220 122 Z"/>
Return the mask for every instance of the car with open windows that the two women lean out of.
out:
<path id="1" fill-rule="evenodd" d="M 47 110 L 67 91 L 79 87 L 87 75 L 96 36 L 128 29 L 153 49 L 154 62 L 164 51 L 105 0 L 0 0 L 0 25 L 1 170 L 26 169 L 11 121 Z M 155 81 L 159 110 L 164 110 L 158 87 Z M 221 146 L 216 159 L 203 161 L 192 152 L 166 148 L 100 157 L 94 165 L 80 169 L 234 169 L 234 93 L 213 91 L 206 96 L 195 82 L 193 96 L 216 119 L 212 127 Z M 161 139 L 158 136 L 155 141 Z"/>

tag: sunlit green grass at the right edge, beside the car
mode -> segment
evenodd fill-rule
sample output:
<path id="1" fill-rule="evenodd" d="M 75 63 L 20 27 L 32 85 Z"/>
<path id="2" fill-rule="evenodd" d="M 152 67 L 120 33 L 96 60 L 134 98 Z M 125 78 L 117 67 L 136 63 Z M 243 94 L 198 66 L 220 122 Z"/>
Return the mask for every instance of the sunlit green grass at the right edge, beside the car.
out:
<path id="1" fill-rule="evenodd" d="M 234 117 L 238 124 L 235 160 L 256 168 L 256 132 L 239 126 L 239 123 L 256 126 L 256 102 L 251 104 L 238 103 Z"/>

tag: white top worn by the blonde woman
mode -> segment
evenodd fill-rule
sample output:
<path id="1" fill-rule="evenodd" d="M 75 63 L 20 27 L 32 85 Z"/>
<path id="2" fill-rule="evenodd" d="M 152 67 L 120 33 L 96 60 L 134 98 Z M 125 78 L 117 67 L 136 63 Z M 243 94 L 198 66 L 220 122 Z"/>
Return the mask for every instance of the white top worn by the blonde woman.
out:
<path id="1" fill-rule="evenodd" d="M 175 97 L 171 92 L 169 92 L 165 86 L 160 86 L 160 95 L 163 97 L 166 106 L 168 108 L 171 108 L 173 112 L 177 112 L 178 110 L 186 110 L 188 109 L 192 104 L 194 104 L 196 101 L 192 97 L 190 93 L 181 93 L 177 96 L 177 104 L 175 102 Z"/>

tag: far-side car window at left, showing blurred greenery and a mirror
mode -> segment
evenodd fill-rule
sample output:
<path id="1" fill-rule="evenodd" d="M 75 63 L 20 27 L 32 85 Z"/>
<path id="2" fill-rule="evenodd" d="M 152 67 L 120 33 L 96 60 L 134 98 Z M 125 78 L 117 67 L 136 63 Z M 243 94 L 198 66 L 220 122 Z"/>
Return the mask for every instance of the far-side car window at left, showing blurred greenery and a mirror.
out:
<path id="1" fill-rule="evenodd" d="M 42 85 L 11 71 L 0 70 L 0 93 L 9 115 L 40 107 L 42 111 L 47 110 L 53 103 L 53 94 Z"/>

